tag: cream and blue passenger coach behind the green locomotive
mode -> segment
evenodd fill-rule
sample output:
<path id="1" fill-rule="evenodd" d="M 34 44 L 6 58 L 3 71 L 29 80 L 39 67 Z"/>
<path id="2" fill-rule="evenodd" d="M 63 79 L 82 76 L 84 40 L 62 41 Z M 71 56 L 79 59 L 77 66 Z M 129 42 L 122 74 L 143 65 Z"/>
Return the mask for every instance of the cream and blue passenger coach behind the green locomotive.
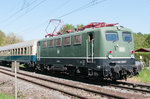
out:
<path id="1" fill-rule="evenodd" d="M 37 41 L 31 40 L 0 47 L 0 62 L 2 64 L 18 61 L 25 64 L 36 62 Z"/>

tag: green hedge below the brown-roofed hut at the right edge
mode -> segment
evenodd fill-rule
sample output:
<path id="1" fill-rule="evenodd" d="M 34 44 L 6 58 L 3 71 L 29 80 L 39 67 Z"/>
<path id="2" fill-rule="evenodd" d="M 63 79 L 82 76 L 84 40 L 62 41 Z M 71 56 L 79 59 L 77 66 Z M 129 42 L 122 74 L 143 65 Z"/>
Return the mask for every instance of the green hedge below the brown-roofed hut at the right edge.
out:
<path id="1" fill-rule="evenodd" d="M 135 59 L 140 60 L 140 56 L 142 56 L 142 61 L 145 62 L 145 65 L 149 65 L 150 60 L 150 52 L 136 52 L 135 53 Z"/>

